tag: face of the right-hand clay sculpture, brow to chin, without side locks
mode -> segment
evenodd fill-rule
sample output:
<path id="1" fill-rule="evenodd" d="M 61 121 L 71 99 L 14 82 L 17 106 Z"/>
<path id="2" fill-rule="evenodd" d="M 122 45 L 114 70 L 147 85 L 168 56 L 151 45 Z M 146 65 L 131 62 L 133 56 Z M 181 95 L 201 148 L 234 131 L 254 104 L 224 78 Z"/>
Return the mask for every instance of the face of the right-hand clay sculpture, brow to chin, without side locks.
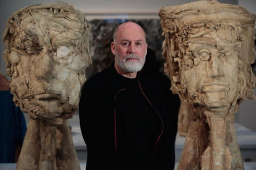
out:
<path id="1" fill-rule="evenodd" d="M 182 59 L 181 80 L 190 101 L 209 108 L 226 108 L 236 101 L 238 91 L 238 52 L 210 33 L 206 38 L 190 38 L 193 59 Z"/>

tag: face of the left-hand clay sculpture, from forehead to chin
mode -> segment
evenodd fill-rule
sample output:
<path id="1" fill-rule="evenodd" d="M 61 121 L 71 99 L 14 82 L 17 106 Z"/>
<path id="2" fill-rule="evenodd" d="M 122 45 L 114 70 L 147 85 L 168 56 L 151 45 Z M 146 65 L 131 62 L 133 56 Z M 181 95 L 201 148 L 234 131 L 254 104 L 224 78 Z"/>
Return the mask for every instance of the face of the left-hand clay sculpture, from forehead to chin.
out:
<path id="1" fill-rule="evenodd" d="M 84 36 L 57 20 L 33 14 L 41 20 L 35 23 L 31 17 L 21 21 L 22 30 L 7 55 L 14 70 L 10 85 L 25 109 L 43 117 L 59 117 L 73 112 L 78 104 L 88 65 L 88 54 L 82 50 Z M 81 24 L 72 24 L 83 29 Z"/>

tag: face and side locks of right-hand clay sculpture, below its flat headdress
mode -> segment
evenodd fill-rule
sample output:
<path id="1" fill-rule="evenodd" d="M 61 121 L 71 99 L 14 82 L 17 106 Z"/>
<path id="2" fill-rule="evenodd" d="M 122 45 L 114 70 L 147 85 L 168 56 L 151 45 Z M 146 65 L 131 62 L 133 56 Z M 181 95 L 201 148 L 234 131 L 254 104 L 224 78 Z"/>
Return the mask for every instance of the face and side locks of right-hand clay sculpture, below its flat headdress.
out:
<path id="1" fill-rule="evenodd" d="M 215 23 L 189 28 L 180 48 L 185 53 L 177 60 L 179 87 L 187 100 L 220 110 L 236 106 L 247 95 L 255 80 L 246 68 L 252 53 L 248 49 L 253 49 L 253 38 L 245 39 L 247 33 L 225 24 L 217 28 Z"/>

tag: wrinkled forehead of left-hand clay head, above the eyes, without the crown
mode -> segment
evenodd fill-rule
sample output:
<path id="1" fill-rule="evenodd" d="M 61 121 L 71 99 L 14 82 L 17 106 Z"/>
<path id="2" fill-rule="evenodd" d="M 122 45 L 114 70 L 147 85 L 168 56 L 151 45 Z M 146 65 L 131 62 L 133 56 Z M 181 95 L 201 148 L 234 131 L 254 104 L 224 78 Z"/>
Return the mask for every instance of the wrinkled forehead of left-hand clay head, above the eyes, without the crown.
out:
<path id="1" fill-rule="evenodd" d="M 11 33 L 13 31 L 13 33 Z M 19 19 L 12 23 L 10 34 L 26 40 L 28 37 L 48 37 L 51 43 L 75 42 L 85 31 L 84 23 L 73 13 L 55 14 L 49 9 L 22 12 Z M 40 43 L 40 41 L 39 41 Z"/>

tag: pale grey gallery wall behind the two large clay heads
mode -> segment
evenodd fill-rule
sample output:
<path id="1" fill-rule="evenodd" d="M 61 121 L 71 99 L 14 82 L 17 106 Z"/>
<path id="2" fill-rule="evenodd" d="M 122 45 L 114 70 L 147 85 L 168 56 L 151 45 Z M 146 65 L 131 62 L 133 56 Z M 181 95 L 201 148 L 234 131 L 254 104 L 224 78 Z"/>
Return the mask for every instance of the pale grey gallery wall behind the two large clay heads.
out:
<path id="1" fill-rule="evenodd" d="M 5 74 L 5 63 L 3 61 L 4 43 L 2 34 L 5 24 L 10 15 L 22 7 L 53 3 L 53 0 L 2 0 L 0 4 L 0 71 Z M 189 0 L 66 0 L 77 9 L 85 13 L 88 20 L 93 19 L 158 19 L 157 12 L 163 6 L 180 5 L 193 1 Z M 244 6 L 252 13 L 256 13 L 256 1 L 254 0 L 220 0 L 220 3 L 238 4 Z M 256 101 L 245 101 L 239 107 L 236 122 L 253 129 L 256 132 Z"/>

